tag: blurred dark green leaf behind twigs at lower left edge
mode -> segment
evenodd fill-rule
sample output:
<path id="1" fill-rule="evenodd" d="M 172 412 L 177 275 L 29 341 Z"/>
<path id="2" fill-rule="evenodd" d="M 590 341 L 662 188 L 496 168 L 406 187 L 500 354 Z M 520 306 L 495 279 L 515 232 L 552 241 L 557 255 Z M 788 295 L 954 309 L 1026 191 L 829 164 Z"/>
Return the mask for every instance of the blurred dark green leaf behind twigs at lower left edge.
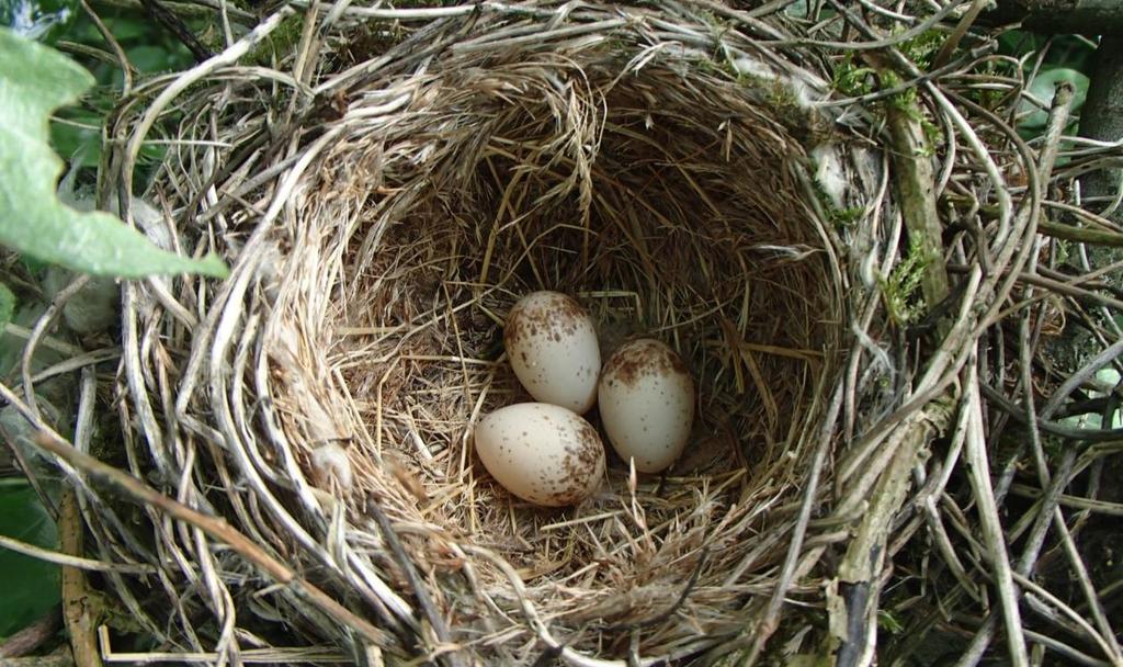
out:
<path id="1" fill-rule="evenodd" d="M 54 522 L 26 483 L 0 486 L 0 534 L 57 548 Z M 58 567 L 0 547 L 0 637 L 18 632 L 58 604 Z"/>

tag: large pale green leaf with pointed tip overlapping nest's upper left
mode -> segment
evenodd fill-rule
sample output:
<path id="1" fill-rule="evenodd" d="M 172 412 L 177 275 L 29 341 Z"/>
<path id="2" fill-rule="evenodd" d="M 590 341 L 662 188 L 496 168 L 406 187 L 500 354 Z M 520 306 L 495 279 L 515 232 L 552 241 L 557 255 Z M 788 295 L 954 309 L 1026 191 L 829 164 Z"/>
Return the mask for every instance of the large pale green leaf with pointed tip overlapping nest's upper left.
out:
<path id="1" fill-rule="evenodd" d="M 192 259 L 167 253 L 109 213 L 63 205 L 54 191 L 63 165 L 48 144 L 47 116 L 76 101 L 93 77 L 6 28 L 0 28 L 0 245 L 95 275 L 228 275 L 213 254 Z"/>

